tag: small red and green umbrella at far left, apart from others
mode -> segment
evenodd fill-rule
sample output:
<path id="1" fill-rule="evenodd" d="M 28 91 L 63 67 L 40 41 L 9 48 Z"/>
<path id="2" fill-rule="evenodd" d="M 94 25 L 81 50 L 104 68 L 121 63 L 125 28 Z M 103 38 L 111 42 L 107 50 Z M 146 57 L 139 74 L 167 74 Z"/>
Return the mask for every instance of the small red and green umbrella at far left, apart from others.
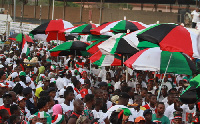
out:
<path id="1" fill-rule="evenodd" d="M 23 34 L 23 36 L 22 36 L 22 33 L 13 34 L 13 35 L 9 36 L 8 39 L 22 42 L 22 37 L 24 38 L 25 41 L 34 43 L 33 40 L 28 35 Z"/>

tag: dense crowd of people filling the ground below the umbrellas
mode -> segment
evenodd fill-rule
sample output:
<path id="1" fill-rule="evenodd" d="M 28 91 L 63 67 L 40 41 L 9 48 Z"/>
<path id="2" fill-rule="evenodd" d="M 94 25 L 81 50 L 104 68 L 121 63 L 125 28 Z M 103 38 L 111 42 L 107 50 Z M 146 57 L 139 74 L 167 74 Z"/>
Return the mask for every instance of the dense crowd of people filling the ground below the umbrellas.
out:
<path id="1" fill-rule="evenodd" d="M 88 57 L 52 57 L 54 46 L 29 43 L 26 56 L 12 42 L 0 51 L 0 123 L 198 123 L 198 103 L 179 100 L 195 75 L 126 74 L 124 66 L 98 67 Z"/>

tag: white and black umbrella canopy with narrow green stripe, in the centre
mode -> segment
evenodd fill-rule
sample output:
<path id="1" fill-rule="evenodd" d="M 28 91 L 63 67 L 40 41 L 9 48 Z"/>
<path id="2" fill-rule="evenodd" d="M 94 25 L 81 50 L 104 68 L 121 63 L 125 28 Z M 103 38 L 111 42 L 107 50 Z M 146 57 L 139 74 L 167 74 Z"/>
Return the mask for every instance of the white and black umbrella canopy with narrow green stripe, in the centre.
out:
<path id="1" fill-rule="evenodd" d="M 126 33 L 119 33 L 115 36 L 109 38 L 104 41 L 102 44 L 98 46 L 103 54 L 135 54 L 139 50 L 137 49 L 137 43 L 130 40 L 126 40 Z"/>

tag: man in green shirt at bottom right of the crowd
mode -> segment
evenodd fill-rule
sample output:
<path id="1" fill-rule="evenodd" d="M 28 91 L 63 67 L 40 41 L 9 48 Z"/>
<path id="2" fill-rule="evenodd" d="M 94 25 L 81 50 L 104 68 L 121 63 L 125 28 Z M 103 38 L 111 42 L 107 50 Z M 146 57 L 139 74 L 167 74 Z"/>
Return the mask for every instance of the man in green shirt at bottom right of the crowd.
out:
<path id="1" fill-rule="evenodd" d="M 165 105 L 163 102 L 157 104 L 157 113 L 152 115 L 153 122 L 161 122 L 162 124 L 170 124 L 169 119 L 164 115 Z"/>

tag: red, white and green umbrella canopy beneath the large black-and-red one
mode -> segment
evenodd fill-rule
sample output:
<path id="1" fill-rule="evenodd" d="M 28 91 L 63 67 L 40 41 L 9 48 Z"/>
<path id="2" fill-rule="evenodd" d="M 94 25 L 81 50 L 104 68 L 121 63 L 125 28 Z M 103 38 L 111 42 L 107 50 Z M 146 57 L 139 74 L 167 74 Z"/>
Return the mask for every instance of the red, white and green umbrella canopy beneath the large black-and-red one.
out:
<path id="1" fill-rule="evenodd" d="M 196 72 L 195 64 L 180 52 L 162 51 L 159 47 L 147 48 L 130 57 L 124 64 L 136 70 L 160 71 L 164 73 L 172 54 L 167 73 L 192 75 Z"/>

